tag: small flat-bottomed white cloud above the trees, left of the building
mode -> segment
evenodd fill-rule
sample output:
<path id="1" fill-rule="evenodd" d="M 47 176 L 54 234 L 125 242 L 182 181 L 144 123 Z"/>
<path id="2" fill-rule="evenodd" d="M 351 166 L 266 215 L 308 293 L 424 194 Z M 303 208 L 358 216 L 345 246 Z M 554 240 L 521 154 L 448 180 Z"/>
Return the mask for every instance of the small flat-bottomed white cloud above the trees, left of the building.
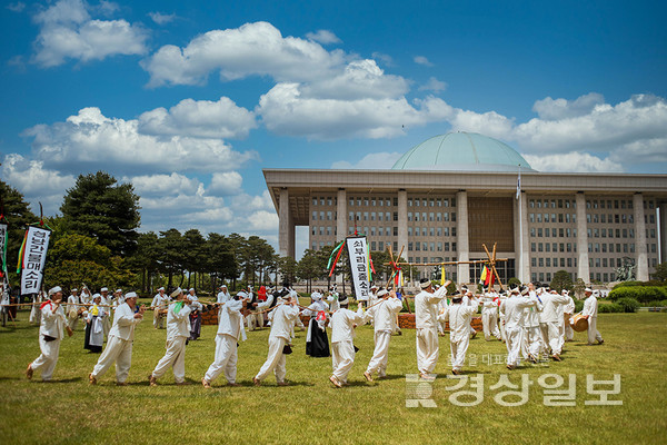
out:
<path id="1" fill-rule="evenodd" d="M 185 99 L 169 110 L 156 108 L 139 116 L 139 131 L 146 135 L 196 138 L 245 138 L 257 128 L 255 115 L 229 98 Z"/>

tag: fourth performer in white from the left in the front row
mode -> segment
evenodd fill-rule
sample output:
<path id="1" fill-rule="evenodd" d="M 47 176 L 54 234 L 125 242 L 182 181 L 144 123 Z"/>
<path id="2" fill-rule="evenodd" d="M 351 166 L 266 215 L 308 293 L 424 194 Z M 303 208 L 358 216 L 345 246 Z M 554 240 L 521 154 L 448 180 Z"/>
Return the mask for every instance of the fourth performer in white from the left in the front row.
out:
<path id="1" fill-rule="evenodd" d="M 239 386 L 236 383 L 238 342 L 243 329 L 241 309 L 243 301 L 248 299 L 249 295 L 240 291 L 235 299 L 221 304 L 216 335 L 216 357 L 201 379 L 205 388 L 210 388 L 211 383 L 222 373 L 227 385 Z"/>

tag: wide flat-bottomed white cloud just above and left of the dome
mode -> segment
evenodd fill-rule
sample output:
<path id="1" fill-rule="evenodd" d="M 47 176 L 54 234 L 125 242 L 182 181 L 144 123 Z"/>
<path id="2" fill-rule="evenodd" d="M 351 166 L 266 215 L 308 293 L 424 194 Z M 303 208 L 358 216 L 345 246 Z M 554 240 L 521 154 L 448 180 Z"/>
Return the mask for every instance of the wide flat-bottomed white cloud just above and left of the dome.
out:
<path id="1" fill-rule="evenodd" d="M 438 99 L 420 101 L 416 109 L 398 99 L 317 99 L 301 96 L 297 83 L 278 83 L 259 100 L 257 112 L 266 127 L 280 135 L 313 139 L 389 138 L 402 135 L 406 128 L 438 118 L 431 105 Z"/>

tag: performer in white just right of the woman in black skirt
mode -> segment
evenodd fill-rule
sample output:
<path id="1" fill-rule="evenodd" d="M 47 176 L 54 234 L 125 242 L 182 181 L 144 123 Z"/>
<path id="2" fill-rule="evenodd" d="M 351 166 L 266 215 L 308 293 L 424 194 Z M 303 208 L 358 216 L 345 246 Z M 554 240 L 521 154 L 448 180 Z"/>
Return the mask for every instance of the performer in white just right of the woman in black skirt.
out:
<path id="1" fill-rule="evenodd" d="M 336 387 L 347 386 L 347 377 L 355 364 L 355 328 L 365 322 L 364 309 L 348 309 L 348 298 L 338 300 L 340 307 L 331 315 L 331 366 L 329 382 Z"/>

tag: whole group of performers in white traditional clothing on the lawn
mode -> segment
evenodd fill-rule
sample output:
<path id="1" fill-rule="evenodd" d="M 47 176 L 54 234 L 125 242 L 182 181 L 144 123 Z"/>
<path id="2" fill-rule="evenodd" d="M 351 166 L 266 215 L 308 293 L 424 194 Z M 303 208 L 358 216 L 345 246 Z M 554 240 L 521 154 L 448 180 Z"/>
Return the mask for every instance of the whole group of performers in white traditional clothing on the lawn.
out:
<path id="1" fill-rule="evenodd" d="M 430 280 L 422 279 L 420 291 L 415 296 L 417 368 L 425 380 L 436 378 L 438 334 L 442 324 L 447 322 L 450 332 L 451 372 L 455 375 L 462 372 L 469 342 L 475 333 L 471 319 L 480 305 L 485 338 L 496 338 L 506 343 L 508 369 L 519 366 L 521 358 L 536 363 L 547 354 L 559 362 L 565 342 L 573 338 L 569 319 L 575 305 L 567 291 L 559 295 L 555 290 L 528 284 L 515 287 L 509 293 L 489 291 L 476 296 L 462 287 L 447 298 L 447 284 L 437 287 Z M 111 365 L 116 364 L 117 385 L 125 386 L 131 365 L 135 329 L 143 319 L 146 307 L 137 305 L 138 296 L 133 291 L 122 295 L 119 289 L 110 297 L 106 288 L 94 295 L 90 295 L 84 288 L 82 294 L 86 294 L 86 297 L 79 297 L 78 290 L 72 289 L 72 295 L 63 303 L 60 287 L 56 286 L 49 290 L 48 299 L 40 305 L 41 355 L 28 365 L 26 375 L 32 378 L 33 372 L 40 369 L 42 380 L 51 379 L 64 330 L 71 336 L 77 326 L 76 318 L 82 317 L 87 323 L 87 348 L 100 352 L 103 337 L 108 337 L 98 363 L 89 374 L 89 383 L 97 384 Z M 589 344 L 604 343 L 596 327 L 596 294 L 597 291 L 586 289 L 587 298 L 580 314 L 588 320 Z M 310 317 L 307 354 L 313 357 L 331 356 L 332 374 L 329 380 L 332 385 L 347 385 L 357 350 L 354 345 L 355 329 L 367 323 L 374 325 L 375 348 L 364 377 L 368 382 L 386 377 L 389 343 L 392 334 L 397 333 L 397 315 L 402 308 L 399 295 L 392 289 L 374 286 L 369 300 L 365 301 L 365 305 L 359 304 L 356 312 L 348 308 L 349 298 L 340 296 L 335 287 L 329 290 L 327 297 L 331 307 L 323 301 L 320 291 L 312 293 L 311 299 L 311 305 L 299 306 L 298 294 L 289 283 L 285 283 L 280 290 L 269 289 L 263 299 L 256 299 L 251 290 L 239 291 L 232 297 L 227 287 L 222 286 L 213 304 L 218 310 L 215 358 L 201 379 L 202 386 L 210 388 L 220 374 L 225 374 L 228 385 L 238 386 L 238 342 L 247 338 L 246 325 L 249 316 L 255 316 L 253 323 L 261 320 L 261 325 L 257 322 L 256 326 L 263 326 L 265 322 L 270 326 L 268 356 L 252 378 L 255 385 L 260 385 L 271 373 L 275 374 L 278 385 L 288 384 L 286 356 L 291 354 L 291 339 L 295 337 L 295 327 L 301 324 L 300 315 Z M 113 323 L 108 333 L 104 333 L 104 319 L 108 322 L 110 316 L 109 308 L 113 309 Z M 193 339 L 192 325 L 201 326 L 202 305 L 195 295 L 195 289 L 186 293 L 177 288 L 168 296 L 165 289 L 160 288 L 151 308 L 156 328 L 161 326 L 160 318 L 166 319 L 167 350 L 149 375 L 149 384 L 156 386 L 157 380 L 171 368 L 176 384 L 186 385 L 186 345 L 188 340 Z M 327 327 L 331 330 L 330 348 Z M 198 337 L 199 333 L 195 338 Z"/>

